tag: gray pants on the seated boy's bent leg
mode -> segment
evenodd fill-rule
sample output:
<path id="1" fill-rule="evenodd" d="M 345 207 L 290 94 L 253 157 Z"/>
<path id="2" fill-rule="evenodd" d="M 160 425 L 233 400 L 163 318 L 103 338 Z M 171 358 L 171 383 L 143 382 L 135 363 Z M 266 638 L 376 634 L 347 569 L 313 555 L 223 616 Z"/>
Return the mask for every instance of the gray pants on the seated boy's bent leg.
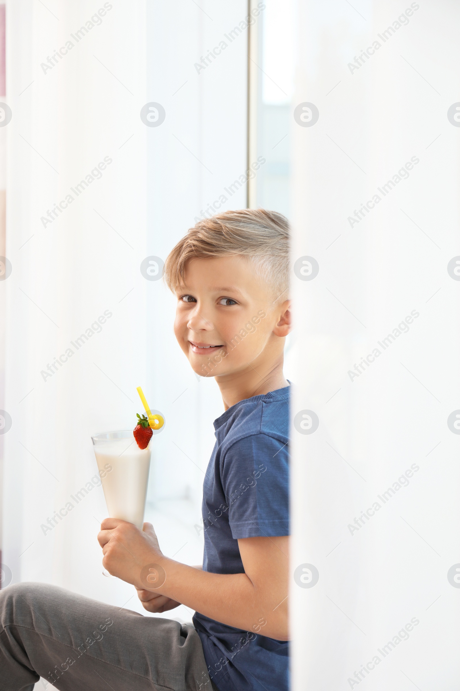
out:
<path id="1" fill-rule="evenodd" d="M 192 626 L 44 583 L 0 591 L 0 691 L 211 691 Z M 215 687 L 214 687 L 215 688 Z"/>

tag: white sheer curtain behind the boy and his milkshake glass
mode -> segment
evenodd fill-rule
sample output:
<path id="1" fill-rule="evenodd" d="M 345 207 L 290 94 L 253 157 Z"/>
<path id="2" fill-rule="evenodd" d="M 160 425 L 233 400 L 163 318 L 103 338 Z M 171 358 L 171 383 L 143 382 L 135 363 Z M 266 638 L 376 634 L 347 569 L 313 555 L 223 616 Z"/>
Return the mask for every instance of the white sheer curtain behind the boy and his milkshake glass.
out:
<path id="1" fill-rule="evenodd" d="M 139 385 L 166 416 L 148 518 L 166 553 L 201 560 L 201 484 L 222 403 L 214 381 L 188 368 L 174 301 L 141 263 L 164 260 L 219 198 L 222 209 L 246 205 L 246 33 L 223 36 L 246 9 L 240 0 L 7 3 L 12 274 L 0 288 L 12 427 L 2 437 L 2 547 L 13 582 L 56 583 L 120 607 L 132 596 L 101 575 L 101 488 L 78 504 L 71 495 L 97 472 L 90 435 L 134 425 Z M 151 102 L 166 112 L 161 126 L 141 120 Z M 72 511 L 43 529 L 69 501 Z M 129 606 L 141 609 L 135 598 Z"/>

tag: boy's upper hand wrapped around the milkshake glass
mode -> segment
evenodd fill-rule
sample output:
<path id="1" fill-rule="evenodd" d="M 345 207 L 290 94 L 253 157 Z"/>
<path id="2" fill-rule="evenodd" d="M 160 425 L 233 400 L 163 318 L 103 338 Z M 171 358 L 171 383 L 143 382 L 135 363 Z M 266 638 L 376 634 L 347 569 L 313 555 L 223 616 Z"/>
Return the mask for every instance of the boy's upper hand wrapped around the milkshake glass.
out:
<path id="1" fill-rule="evenodd" d="M 119 518 L 105 518 L 97 540 L 104 555 L 103 567 L 139 590 L 143 589 L 140 578 L 143 567 L 161 564 L 164 559 L 151 523 L 144 523 L 141 531 Z"/>

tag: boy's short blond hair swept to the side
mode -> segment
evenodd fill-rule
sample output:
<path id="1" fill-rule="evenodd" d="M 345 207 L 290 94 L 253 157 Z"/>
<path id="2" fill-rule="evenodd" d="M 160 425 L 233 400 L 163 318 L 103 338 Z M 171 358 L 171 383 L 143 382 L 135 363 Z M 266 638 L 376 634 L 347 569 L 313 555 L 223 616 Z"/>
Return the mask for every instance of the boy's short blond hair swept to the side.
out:
<path id="1" fill-rule="evenodd" d="M 200 220 L 166 258 L 163 278 L 175 292 L 183 285 L 186 263 L 192 258 L 241 255 L 251 259 L 270 286 L 274 301 L 288 297 L 288 219 L 278 211 L 241 209 Z"/>

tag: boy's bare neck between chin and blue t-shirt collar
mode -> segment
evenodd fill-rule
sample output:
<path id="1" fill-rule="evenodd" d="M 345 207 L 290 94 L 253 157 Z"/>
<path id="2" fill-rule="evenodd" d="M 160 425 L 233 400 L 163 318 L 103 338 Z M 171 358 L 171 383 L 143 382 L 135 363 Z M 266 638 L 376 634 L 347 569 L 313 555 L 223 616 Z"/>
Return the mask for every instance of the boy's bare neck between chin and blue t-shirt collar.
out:
<path id="1" fill-rule="evenodd" d="M 226 410 L 239 401 L 252 396 L 259 396 L 269 391 L 289 386 L 283 375 L 283 355 L 275 363 L 267 365 L 254 361 L 241 372 L 232 375 L 215 377 L 221 390 L 223 405 Z"/>

